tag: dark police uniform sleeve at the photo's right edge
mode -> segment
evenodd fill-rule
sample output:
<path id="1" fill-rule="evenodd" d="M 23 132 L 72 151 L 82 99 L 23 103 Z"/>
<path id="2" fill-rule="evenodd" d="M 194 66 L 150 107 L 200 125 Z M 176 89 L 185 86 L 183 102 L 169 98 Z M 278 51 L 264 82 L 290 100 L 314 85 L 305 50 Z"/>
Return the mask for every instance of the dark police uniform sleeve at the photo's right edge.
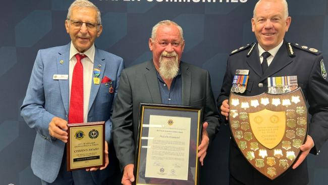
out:
<path id="1" fill-rule="evenodd" d="M 322 55 L 316 57 L 307 89 L 309 113 L 312 115 L 308 134 L 314 141 L 312 154 L 317 154 L 328 138 L 328 81 L 322 77 L 321 61 Z"/>

